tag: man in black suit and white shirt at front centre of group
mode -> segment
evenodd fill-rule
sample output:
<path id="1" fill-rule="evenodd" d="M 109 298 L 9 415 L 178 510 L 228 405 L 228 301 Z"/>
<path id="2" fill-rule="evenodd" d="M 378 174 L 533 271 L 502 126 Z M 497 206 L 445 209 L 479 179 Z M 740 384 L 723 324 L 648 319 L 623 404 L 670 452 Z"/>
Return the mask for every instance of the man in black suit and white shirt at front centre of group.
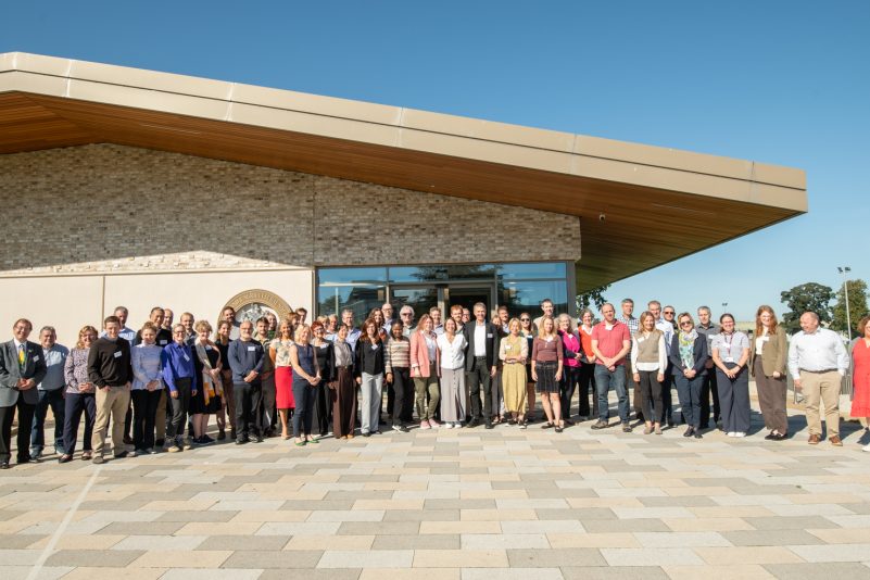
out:
<path id="1" fill-rule="evenodd" d="M 492 379 L 497 371 L 499 329 L 487 320 L 487 305 L 478 302 L 475 319 L 463 327 L 465 336 L 465 382 L 471 396 L 471 420 L 477 427 L 482 415 L 487 429 L 492 429 Z M 483 389 L 483 408 L 480 408 L 480 389 Z"/>

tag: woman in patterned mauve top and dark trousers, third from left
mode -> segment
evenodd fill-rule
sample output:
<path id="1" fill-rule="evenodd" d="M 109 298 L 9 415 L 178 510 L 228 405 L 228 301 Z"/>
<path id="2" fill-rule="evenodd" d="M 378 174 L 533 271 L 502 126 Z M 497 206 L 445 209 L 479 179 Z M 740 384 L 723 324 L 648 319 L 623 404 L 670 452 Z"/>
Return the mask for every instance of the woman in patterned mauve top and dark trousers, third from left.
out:
<path id="1" fill-rule="evenodd" d="M 83 446 L 85 451 L 81 458 L 91 458 L 90 438 L 93 433 L 93 421 L 97 418 L 97 401 L 93 383 L 88 378 L 88 352 L 90 344 L 97 340 L 97 329 L 86 326 L 78 331 L 78 342 L 75 349 L 70 352 L 64 363 L 63 374 L 66 380 L 66 392 L 64 393 L 65 411 L 63 421 L 63 455 L 58 459 L 60 463 L 67 463 L 73 459 L 76 451 L 76 439 L 78 438 L 78 421 L 81 419 L 81 412 L 85 412 L 85 438 Z"/>

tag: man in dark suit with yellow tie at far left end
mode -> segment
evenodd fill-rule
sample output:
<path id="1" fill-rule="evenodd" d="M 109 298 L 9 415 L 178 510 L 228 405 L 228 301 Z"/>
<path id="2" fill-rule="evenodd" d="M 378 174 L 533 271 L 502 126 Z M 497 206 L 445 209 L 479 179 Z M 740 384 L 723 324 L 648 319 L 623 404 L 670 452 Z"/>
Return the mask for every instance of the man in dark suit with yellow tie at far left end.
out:
<path id="1" fill-rule="evenodd" d="M 18 411 L 18 463 L 30 458 L 30 426 L 39 401 L 36 386 L 46 378 L 42 346 L 27 337 L 34 325 L 20 318 L 12 325 L 13 339 L 0 345 L 0 469 L 9 469 L 12 456 L 12 419 Z"/>

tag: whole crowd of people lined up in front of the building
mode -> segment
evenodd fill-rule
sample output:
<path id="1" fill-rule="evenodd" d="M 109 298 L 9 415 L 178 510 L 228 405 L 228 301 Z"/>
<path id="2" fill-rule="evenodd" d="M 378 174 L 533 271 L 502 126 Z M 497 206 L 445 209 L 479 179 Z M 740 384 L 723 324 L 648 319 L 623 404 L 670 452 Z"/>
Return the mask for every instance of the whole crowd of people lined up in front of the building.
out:
<path id="1" fill-rule="evenodd" d="M 387 303 L 358 326 L 351 310 L 308 325 L 304 308 L 280 321 L 268 313 L 239 323 L 227 307 L 216 328 L 191 313 L 173 325 L 173 312 L 156 306 L 138 330 L 127 327 L 128 311 L 118 306 L 101 332 L 83 327 L 72 349 L 56 342 L 50 326 L 38 343 L 29 341 L 33 325 L 22 318 L 0 346 L 0 468 L 10 466 L 16 414 L 18 464 L 40 461 L 47 446 L 60 463 L 73 461 L 83 417 L 80 458 L 100 464 L 110 454 L 212 444 L 212 416 L 218 441 L 281 437 L 303 446 L 330 433 L 370 437 L 388 425 L 401 432 L 499 424 L 527 429 L 539 418 L 537 398 L 540 427 L 557 433 L 594 419 L 595 430 L 631 432 L 642 425 L 650 436 L 682 423 L 686 438 L 702 439 L 714 428 L 742 438 L 751 425 L 749 377 L 765 439 L 783 441 L 790 437 L 789 374 L 806 400 L 808 443 L 823 440 L 823 405 L 825 437 L 841 446 L 841 379 L 850 366 L 852 415 L 870 416 L 870 317 L 860 320 L 849 353 L 811 312 L 790 339 L 773 310 L 760 306 L 751 339 L 730 314 L 715 324 L 706 306 L 697 308 L 697 321 L 657 301 L 640 317 L 632 300 L 620 306 L 617 316 L 605 303 L 601 320 L 584 310 L 576 327 L 551 300 L 541 302 L 534 319 L 529 313 L 510 317 L 505 306 L 490 312 L 482 303 L 454 305 L 444 320 L 438 307 L 415 320 L 404 305 L 393 318 Z M 610 391 L 617 423 L 610 423 Z M 49 408 L 54 432 L 47 445 Z"/>

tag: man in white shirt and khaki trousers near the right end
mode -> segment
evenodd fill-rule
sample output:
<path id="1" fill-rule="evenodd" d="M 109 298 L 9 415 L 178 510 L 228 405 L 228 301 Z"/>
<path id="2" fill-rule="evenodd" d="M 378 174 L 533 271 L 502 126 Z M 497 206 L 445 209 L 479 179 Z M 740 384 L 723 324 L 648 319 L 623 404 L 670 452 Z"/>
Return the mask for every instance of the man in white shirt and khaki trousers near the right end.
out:
<path id="1" fill-rule="evenodd" d="M 802 331 L 789 344 L 789 371 L 794 388 L 806 396 L 809 444 L 818 445 L 822 437 L 819 403 L 824 403 L 824 423 L 828 440 L 843 446 L 840 440 L 840 386 L 846 376 L 849 361 L 846 348 L 833 330 L 819 327 L 819 315 L 805 312 L 800 315 Z"/>

